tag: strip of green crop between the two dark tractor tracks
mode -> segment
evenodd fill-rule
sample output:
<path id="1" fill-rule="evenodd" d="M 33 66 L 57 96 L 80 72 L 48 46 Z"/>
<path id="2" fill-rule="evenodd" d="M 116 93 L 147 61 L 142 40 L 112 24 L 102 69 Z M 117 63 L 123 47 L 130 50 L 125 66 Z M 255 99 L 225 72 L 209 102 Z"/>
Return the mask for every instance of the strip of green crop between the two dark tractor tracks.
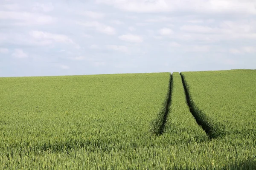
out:
<path id="1" fill-rule="evenodd" d="M 172 77 L 172 105 L 166 125 L 166 132 L 173 133 L 172 135 L 176 134 L 175 139 L 182 140 L 183 142 L 205 142 L 207 135 L 198 126 L 186 103 L 180 74 L 173 73 Z"/>

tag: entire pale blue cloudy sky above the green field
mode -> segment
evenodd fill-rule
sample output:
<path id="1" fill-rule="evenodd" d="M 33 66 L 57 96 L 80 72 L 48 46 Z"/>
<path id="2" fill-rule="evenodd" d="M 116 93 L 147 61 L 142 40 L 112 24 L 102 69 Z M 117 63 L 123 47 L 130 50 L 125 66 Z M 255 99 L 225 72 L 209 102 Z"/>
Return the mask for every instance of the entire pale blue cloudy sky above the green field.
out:
<path id="1" fill-rule="evenodd" d="M 256 0 L 0 0 L 0 77 L 256 69 Z"/>

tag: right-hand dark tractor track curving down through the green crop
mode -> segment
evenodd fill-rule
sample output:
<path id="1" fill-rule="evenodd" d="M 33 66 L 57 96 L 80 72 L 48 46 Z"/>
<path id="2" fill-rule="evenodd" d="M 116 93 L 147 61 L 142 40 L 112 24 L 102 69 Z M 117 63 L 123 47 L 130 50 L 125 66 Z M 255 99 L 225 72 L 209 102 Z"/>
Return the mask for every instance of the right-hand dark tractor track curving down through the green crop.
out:
<path id="1" fill-rule="evenodd" d="M 189 85 L 186 82 L 186 78 L 183 72 L 180 73 L 180 76 L 186 94 L 187 105 L 189 106 L 189 110 L 194 116 L 198 125 L 204 129 L 205 133 L 207 133 L 209 136 L 209 139 L 215 139 L 220 136 L 224 136 L 224 130 L 222 130 L 218 125 L 215 125 L 214 122 L 195 105 L 195 102 L 192 100 L 190 95 L 191 93 L 189 91 Z"/>

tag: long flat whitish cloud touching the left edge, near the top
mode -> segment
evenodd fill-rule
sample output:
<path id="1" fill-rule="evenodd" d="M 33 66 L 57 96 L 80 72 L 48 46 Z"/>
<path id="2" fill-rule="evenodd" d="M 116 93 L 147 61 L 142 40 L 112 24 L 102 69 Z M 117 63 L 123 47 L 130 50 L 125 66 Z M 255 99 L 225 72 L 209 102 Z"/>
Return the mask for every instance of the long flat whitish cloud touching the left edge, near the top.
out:
<path id="1" fill-rule="evenodd" d="M 44 25 L 54 22 L 49 15 L 17 11 L 0 11 L 0 19 L 17 20 L 16 25 Z"/>

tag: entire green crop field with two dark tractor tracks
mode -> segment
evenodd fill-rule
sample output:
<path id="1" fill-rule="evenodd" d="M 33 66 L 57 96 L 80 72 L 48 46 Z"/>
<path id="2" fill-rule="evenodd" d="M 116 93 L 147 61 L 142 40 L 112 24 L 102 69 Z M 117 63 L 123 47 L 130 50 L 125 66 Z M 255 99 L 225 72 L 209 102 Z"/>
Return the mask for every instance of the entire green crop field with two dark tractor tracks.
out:
<path id="1" fill-rule="evenodd" d="M 0 169 L 255 169 L 256 70 L 0 78 Z"/>

